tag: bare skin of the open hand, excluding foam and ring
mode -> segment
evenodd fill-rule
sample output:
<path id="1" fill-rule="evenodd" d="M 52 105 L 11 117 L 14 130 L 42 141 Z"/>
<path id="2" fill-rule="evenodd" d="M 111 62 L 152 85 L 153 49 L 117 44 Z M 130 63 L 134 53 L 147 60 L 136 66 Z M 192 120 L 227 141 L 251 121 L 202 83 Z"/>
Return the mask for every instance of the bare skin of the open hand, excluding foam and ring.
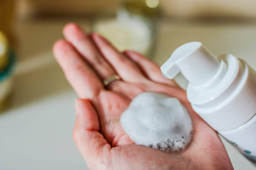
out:
<path id="1" fill-rule="evenodd" d="M 158 65 L 133 51 L 118 52 L 97 33 L 78 25 L 64 27 L 66 40 L 58 40 L 54 56 L 79 95 L 75 102 L 73 139 L 90 170 L 231 170 L 228 154 L 217 133 L 191 108 L 186 92 L 161 75 Z M 113 74 L 122 80 L 102 81 Z M 125 134 L 119 118 L 141 92 L 176 97 L 193 122 L 193 137 L 186 150 L 167 153 L 136 145 Z"/>

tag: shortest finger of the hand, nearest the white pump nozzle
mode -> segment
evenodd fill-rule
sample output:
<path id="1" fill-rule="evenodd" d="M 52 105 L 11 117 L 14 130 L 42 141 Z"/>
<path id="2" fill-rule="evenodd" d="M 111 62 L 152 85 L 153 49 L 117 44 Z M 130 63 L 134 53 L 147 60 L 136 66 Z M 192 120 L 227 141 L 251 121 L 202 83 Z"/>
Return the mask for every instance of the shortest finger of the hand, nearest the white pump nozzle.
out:
<path id="1" fill-rule="evenodd" d="M 155 82 L 160 82 L 178 87 L 178 85 L 173 80 L 167 79 L 162 75 L 160 67 L 153 61 L 149 60 L 148 58 L 144 57 L 138 52 L 128 50 L 123 53 L 133 62 L 138 64 L 138 66 L 141 67 L 141 70 L 143 70 L 144 74 L 149 79 Z"/>

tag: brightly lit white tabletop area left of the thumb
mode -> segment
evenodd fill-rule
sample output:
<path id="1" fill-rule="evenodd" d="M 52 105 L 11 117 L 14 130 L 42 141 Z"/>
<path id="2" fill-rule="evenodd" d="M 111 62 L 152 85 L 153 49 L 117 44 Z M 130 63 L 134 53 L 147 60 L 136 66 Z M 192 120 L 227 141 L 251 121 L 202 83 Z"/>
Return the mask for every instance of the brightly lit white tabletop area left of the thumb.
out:
<path id="1" fill-rule="evenodd" d="M 0 115 L 0 169 L 86 169 L 72 140 L 75 98 L 63 92 Z"/>

